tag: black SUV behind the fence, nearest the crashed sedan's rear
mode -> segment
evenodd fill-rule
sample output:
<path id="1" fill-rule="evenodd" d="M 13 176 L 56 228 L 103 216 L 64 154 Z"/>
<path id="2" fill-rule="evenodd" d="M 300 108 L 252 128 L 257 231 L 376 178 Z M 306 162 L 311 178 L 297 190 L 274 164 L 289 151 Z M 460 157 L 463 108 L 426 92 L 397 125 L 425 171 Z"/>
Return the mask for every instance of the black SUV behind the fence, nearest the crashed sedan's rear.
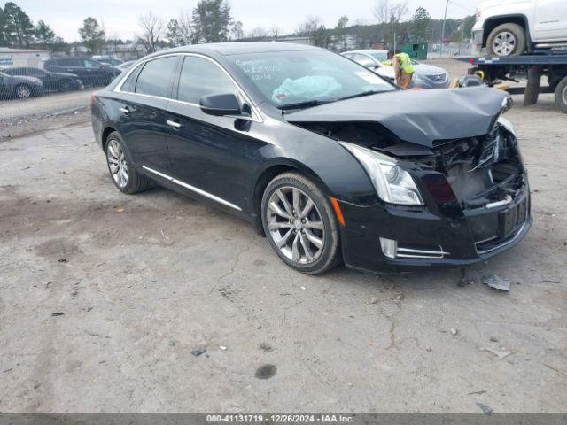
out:
<path id="1" fill-rule="evenodd" d="M 42 67 L 51 73 L 74 73 L 85 86 L 106 86 L 120 75 L 119 70 L 89 58 L 50 58 Z"/>

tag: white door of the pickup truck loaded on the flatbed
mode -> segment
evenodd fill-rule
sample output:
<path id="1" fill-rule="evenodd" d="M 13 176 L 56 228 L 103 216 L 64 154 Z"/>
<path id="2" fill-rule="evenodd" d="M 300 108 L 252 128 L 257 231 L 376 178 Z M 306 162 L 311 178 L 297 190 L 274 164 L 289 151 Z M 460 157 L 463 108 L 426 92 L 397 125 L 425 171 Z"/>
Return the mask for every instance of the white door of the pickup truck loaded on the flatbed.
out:
<path id="1" fill-rule="evenodd" d="M 536 41 L 567 40 L 567 0 L 536 0 L 535 6 Z"/>

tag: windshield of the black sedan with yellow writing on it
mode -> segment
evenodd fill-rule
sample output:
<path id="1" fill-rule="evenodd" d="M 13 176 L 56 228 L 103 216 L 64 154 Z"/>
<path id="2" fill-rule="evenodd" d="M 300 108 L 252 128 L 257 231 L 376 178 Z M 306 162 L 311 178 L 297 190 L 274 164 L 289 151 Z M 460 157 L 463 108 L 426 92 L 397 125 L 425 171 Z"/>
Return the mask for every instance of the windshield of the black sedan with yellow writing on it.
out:
<path id="1" fill-rule="evenodd" d="M 395 90 L 376 73 L 325 50 L 275 51 L 229 58 L 268 103 L 281 109 L 286 105 L 315 105 Z"/>

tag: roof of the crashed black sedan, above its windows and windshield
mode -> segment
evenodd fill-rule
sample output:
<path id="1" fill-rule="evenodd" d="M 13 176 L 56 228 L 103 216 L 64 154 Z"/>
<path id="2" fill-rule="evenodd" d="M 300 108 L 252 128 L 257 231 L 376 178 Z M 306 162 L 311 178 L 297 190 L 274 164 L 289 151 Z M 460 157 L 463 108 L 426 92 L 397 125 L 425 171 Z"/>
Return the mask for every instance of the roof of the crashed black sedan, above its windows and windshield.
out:
<path id="1" fill-rule="evenodd" d="M 223 56 L 238 55 L 246 53 L 264 53 L 268 51 L 299 51 L 299 50 L 322 50 L 307 44 L 296 44 L 292 42 L 212 42 L 208 44 L 190 44 L 175 49 L 160 50 L 159 56 L 164 53 L 216 53 Z"/>

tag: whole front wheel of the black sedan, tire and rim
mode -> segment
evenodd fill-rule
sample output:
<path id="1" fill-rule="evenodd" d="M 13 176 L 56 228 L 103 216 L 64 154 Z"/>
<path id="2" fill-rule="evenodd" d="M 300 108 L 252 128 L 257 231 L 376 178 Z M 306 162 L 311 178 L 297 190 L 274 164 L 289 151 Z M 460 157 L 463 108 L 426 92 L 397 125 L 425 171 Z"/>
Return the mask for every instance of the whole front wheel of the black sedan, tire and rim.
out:
<path id="1" fill-rule="evenodd" d="M 272 180 L 262 197 L 262 226 L 276 254 L 306 274 L 322 274 L 340 262 L 338 222 L 329 198 L 299 173 Z"/>

